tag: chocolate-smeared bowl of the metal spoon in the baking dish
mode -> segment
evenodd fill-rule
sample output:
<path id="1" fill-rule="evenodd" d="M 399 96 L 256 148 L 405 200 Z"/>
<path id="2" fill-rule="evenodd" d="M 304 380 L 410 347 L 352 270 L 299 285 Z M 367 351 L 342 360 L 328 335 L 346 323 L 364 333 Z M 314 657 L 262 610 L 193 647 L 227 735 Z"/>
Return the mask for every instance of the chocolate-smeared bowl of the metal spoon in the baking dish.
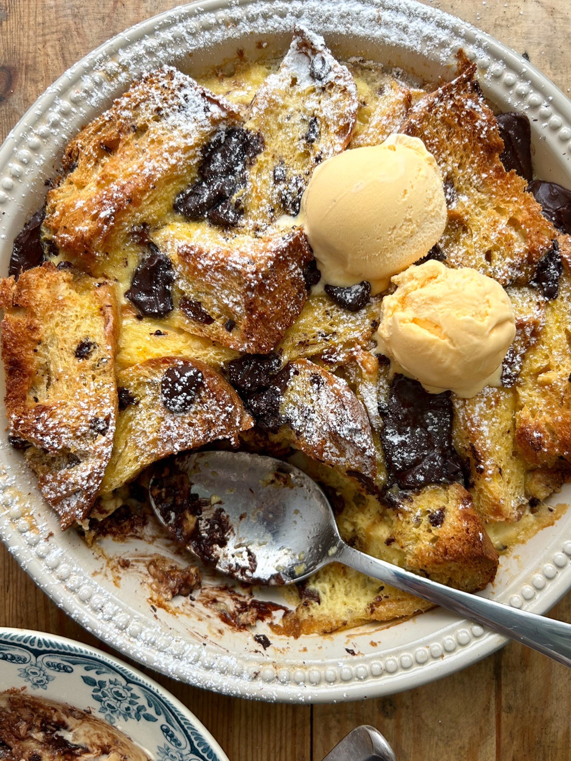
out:
<path id="1" fill-rule="evenodd" d="M 193 498 L 177 492 L 190 488 Z M 327 497 L 298 468 L 245 452 L 179 455 L 149 489 L 173 534 L 180 506 L 196 517 L 186 544 L 205 565 L 252 584 L 301 581 L 326 565 L 342 540 Z M 180 540 L 179 537 L 175 537 Z"/>

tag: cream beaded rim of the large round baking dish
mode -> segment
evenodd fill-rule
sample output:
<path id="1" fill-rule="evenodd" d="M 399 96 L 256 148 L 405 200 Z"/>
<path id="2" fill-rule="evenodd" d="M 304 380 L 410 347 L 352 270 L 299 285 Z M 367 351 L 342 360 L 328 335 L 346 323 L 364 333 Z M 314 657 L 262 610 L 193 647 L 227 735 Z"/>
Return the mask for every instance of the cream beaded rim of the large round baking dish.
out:
<path id="1" fill-rule="evenodd" d="M 181 51 L 188 53 L 228 38 L 240 40 L 253 30 L 260 35 L 288 33 L 295 24 L 305 24 L 326 37 L 341 32 L 369 43 L 382 41 L 448 67 L 461 46 L 477 63 L 485 94 L 495 94 L 506 107 L 525 110 L 539 123 L 541 139 L 557 154 L 571 151 L 571 103 L 557 88 L 493 38 L 435 8 L 412 0 L 210 0 L 174 8 L 131 27 L 70 68 L 33 104 L 0 150 L 0 245 L 11 245 L 5 220 L 13 222 L 17 217 L 20 227 L 24 224 L 34 210 L 30 207 L 34 194 L 39 198 L 45 192 L 44 173 L 53 175 L 54 159 L 79 126 L 101 113 L 145 68 L 176 65 Z M 6 448 L 6 444 L 0 446 L 0 452 Z M 58 546 L 54 537 L 48 537 L 48 528 L 40 529 L 29 517 L 30 501 L 18 495 L 5 466 L 0 472 L 0 506 L 3 540 L 70 615 L 130 657 L 219 692 L 298 702 L 380 696 L 451 673 L 505 642 L 482 626 L 463 621 L 445 626 L 440 637 L 425 637 L 414 647 L 399 648 L 385 658 L 340 654 L 319 664 L 285 667 L 273 662 L 270 654 L 261 658 L 256 653 L 243 658 L 220 655 L 208 646 L 158 632 L 155 621 L 147 622 L 65 557 L 63 542 Z M 545 610 L 549 600 L 547 604 L 542 600 L 550 588 L 557 587 L 557 594 L 551 595 L 554 602 L 571 586 L 569 572 L 561 580 L 569 558 L 571 540 L 564 540 L 518 592 L 511 591 L 509 605 Z M 559 582 L 553 584 L 556 579 Z M 462 651 L 466 657 L 458 658 Z M 418 675 L 409 679 L 415 671 Z"/>

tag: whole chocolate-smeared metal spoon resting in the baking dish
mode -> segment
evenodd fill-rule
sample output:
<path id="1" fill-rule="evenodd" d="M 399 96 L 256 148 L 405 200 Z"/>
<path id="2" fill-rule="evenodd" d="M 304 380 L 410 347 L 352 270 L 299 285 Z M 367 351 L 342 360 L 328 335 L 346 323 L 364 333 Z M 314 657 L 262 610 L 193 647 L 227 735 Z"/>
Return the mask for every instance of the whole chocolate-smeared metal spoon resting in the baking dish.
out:
<path id="1" fill-rule="evenodd" d="M 167 530 L 225 575 L 289 584 L 341 562 L 571 667 L 570 624 L 445 587 L 350 547 L 324 492 L 289 463 L 244 452 L 179 455 L 149 492 Z"/>

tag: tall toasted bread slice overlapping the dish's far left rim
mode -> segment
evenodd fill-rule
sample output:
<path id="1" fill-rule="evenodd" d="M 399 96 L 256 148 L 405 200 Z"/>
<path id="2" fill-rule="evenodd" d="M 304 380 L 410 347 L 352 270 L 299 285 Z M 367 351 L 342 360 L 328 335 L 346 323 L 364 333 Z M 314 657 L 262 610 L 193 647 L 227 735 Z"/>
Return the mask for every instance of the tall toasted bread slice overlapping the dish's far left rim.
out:
<path id="1" fill-rule="evenodd" d="M 0 288 L 10 440 L 65 529 L 88 515 L 111 455 L 115 289 L 51 263 Z"/>

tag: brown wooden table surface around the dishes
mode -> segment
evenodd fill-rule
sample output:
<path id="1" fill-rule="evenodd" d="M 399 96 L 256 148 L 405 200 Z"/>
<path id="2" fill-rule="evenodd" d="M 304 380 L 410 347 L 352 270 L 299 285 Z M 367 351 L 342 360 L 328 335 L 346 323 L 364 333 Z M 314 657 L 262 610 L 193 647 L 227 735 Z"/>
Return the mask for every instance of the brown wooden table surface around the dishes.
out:
<path id="1" fill-rule="evenodd" d="M 65 68 L 176 0 L 0 0 L 0 142 Z M 426 3 L 429 5 L 429 3 Z M 571 87 L 571 3 L 434 0 L 432 5 L 526 52 L 562 90 Z M 62 613 L 0 546 L 0 626 L 101 645 Z M 571 594 L 553 609 L 571 622 Z M 373 724 L 399 761 L 571 759 L 571 677 L 512 643 L 461 673 L 388 698 L 344 705 L 268 705 L 153 674 L 206 724 L 231 761 L 321 761 L 358 724 Z"/>

